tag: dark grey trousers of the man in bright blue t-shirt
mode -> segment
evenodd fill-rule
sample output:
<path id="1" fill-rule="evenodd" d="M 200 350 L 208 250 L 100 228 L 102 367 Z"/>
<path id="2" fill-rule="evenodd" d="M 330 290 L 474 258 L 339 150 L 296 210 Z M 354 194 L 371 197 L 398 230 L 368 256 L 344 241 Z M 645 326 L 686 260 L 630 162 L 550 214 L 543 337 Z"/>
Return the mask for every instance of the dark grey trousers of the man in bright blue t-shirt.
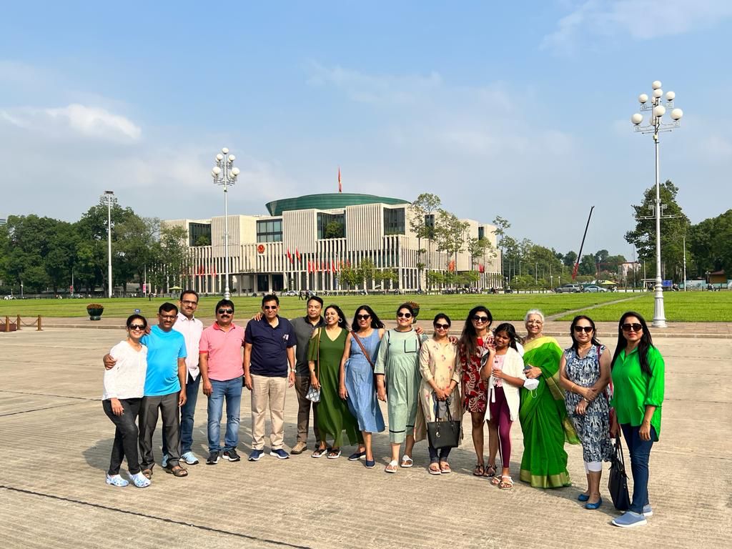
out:
<path id="1" fill-rule="evenodd" d="M 157 397 L 143 397 L 140 406 L 140 451 L 143 469 L 152 469 L 155 456 L 152 453 L 152 436 L 157 427 L 158 409 L 163 412 L 163 437 L 168 447 L 168 466 L 175 467 L 180 460 L 180 391 Z"/>

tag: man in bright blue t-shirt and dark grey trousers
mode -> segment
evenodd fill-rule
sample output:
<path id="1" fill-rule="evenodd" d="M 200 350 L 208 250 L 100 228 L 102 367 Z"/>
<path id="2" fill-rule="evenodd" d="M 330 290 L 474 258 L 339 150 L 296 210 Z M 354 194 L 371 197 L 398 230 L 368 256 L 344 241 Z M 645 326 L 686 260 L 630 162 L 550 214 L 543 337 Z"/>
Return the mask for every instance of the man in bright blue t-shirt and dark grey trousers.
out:
<path id="1" fill-rule="evenodd" d="M 157 326 L 143 336 L 141 343 L 147 346 L 147 373 L 145 396 L 140 405 L 140 449 L 142 474 L 152 477 L 155 458 L 152 452 L 152 436 L 157 427 L 158 412 L 163 415 L 163 437 L 168 447 L 168 463 L 165 471 L 175 477 L 187 477 L 188 471 L 180 466 L 179 407 L 186 402 L 185 339 L 173 330 L 178 318 L 178 307 L 163 303 L 157 312 Z M 183 390 L 181 390 L 183 389 Z"/>

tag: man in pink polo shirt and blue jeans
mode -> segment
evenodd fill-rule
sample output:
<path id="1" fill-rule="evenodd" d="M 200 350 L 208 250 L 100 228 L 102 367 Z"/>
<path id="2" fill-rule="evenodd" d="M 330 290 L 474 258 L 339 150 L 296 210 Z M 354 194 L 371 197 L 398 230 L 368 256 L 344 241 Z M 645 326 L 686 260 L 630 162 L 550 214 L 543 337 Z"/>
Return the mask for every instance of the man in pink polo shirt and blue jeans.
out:
<path id="1" fill-rule="evenodd" d="M 239 461 L 239 409 L 242 405 L 244 329 L 234 324 L 234 303 L 216 304 L 216 321 L 203 330 L 199 349 L 203 394 L 209 397 L 209 457 L 206 465 L 219 463 L 219 456 Z M 221 447 L 221 415 L 226 399 L 226 435 Z"/>

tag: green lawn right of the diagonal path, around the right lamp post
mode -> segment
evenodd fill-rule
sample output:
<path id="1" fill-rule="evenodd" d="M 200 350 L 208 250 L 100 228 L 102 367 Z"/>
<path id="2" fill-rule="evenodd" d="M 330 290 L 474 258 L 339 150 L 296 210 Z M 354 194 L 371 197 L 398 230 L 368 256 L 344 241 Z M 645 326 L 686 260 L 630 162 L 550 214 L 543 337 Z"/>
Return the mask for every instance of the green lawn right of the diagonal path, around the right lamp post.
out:
<path id="1" fill-rule="evenodd" d="M 621 296 L 622 294 L 615 294 Z M 653 292 L 646 292 L 630 302 L 603 305 L 586 311 L 594 321 L 617 321 L 627 310 L 635 310 L 651 321 Z M 732 292 L 729 291 L 668 291 L 663 294 L 663 308 L 669 322 L 732 322 Z M 573 315 L 560 320 L 571 321 Z"/>

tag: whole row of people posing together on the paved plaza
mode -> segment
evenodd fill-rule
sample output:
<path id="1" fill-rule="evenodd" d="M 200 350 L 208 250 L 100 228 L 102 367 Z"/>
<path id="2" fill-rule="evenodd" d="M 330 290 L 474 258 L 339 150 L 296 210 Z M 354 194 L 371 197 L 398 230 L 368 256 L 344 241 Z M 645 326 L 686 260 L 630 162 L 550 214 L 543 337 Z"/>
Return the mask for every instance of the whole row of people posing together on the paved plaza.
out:
<path id="1" fill-rule="evenodd" d="M 397 308 L 393 329 L 386 329 L 368 305 L 357 307 L 348 326 L 340 307 L 324 307 L 315 295 L 307 299 L 305 316 L 292 321 L 280 317 L 277 296 L 266 295 L 261 313 L 245 329 L 234 324 L 234 303 L 228 299 L 217 303 L 216 320 L 205 329 L 195 318 L 195 291 L 183 291 L 179 305 L 161 305 L 152 328 L 141 315 L 131 315 L 127 339 L 104 357 L 103 406 L 116 425 L 106 477 L 110 485 L 129 484 L 119 474 L 123 458 L 135 486 L 150 484 L 159 412 L 163 468 L 175 477 L 187 476 L 184 464 L 198 463 L 192 444 L 200 385 L 208 397 L 206 464 L 215 465 L 220 458 L 239 461 L 239 411 L 246 387 L 252 413 L 250 461 L 264 454 L 268 412 L 269 454 L 288 459 L 290 453 L 305 452 L 312 411 L 313 458 L 339 458 L 345 436 L 356 447 L 348 460 L 364 458 L 365 466 L 373 468 L 373 433 L 386 429 L 381 400 L 386 402 L 391 443 L 386 473 L 413 466 L 414 444 L 427 438 L 427 471 L 449 474 L 451 448 L 433 447 L 427 427 L 460 420 L 469 411 L 477 457 L 473 474 L 489 477 L 501 490 L 514 484 L 510 433 L 517 419 L 524 447 L 519 479 L 531 486 L 570 485 L 564 444 L 582 444 L 587 490 L 578 500 L 586 509 L 602 505 L 602 463 L 613 455 L 612 438 L 621 430 L 634 487 L 630 509 L 613 523 L 638 526 L 652 514 L 648 463 L 660 434 L 664 362 L 638 313 L 622 315 L 610 357 L 586 315 L 572 321 L 572 346 L 563 350 L 553 337 L 543 335 L 539 310 L 526 313 L 522 338 L 512 324 L 491 329 L 493 317 L 482 305 L 470 310 L 459 337 L 449 334 L 452 321 L 444 313 L 433 318 L 431 335 L 414 326 L 415 311 L 408 303 Z M 291 386 L 298 400 L 297 438 L 288 453 L 284 409 Z"/>

